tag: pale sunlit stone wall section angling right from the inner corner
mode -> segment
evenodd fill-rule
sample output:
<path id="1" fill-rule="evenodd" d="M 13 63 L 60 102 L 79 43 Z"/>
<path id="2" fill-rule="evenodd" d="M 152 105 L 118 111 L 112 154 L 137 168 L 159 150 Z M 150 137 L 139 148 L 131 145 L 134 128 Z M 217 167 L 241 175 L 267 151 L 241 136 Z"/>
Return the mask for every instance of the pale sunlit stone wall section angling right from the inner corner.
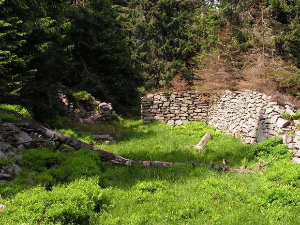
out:
<path id="1" fill-rule="evenodd" d="M 283 107 L 271 102 L 270 98 L 258 91 L 226 90 L 211 101 L 208 124 L 251 144 L 296 130 L 294 122 L 280 117 L 287 110 L 294 114 L 297 106 L 286 103 Z"/>

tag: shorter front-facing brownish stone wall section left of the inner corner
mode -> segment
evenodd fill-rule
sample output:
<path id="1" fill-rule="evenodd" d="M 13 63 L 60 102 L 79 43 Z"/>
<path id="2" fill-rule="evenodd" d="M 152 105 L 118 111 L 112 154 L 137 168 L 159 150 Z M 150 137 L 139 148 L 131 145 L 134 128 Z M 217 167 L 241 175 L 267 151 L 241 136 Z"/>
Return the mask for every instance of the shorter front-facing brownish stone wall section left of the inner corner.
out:
<path id="1" fill-rule="evenodd" d="M 149 94 L 142 98 L 141 115 L 144 123 L 154 120 L 168 125 L 208 120 L 208 97 L 198 92 L 168 92 Z"/>

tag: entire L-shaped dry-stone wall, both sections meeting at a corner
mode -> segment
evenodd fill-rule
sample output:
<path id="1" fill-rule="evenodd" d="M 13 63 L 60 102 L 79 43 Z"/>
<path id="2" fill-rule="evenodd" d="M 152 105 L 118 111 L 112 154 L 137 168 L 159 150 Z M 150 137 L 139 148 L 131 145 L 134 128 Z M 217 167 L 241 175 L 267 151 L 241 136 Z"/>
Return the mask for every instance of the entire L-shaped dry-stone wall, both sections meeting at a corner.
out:
<path id="1" fill-rule="evenodd" d="M 141 101 L 144 123 L 156 120 L 168 125 L 181 125 L 201 120 L 217 131 L 234 135 L 249 144 L 282 135 L 288 149 L 295 152 L 293 161 L 300 163 L 299 121 L 281 118 L 283 113 L 293 115 L 297 109 L 291 103 L 278 105 L 271 101 L 271 96 L 252 90 L 226 90 L 224 94 L 210 97 L 192 91 L 157 93 L 148 94 Z M 286 132 L 294 132 L 295 135 Z"/>

